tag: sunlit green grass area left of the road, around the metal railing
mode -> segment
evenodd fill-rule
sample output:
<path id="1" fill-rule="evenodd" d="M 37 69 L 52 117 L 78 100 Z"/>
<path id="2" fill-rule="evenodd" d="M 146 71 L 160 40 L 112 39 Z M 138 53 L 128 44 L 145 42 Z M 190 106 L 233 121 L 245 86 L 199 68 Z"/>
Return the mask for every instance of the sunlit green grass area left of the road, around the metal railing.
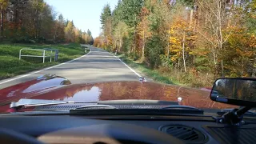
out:
<path id="1" fill-rule="evenodd" d="M 50 62 L 50 58 L 46 58 L 42 63 L 42 58 L 26 58 L 18 59 L 19 50 L 22 48 L 42 49 L 53 48 L 58 50 L 58 62 Z M 46 52 L 49 54 L 50 52 Z M 22 54 L 42 55 L 42 51 L 24 50 Z M 85 54 L 80 44 L 69 45 L 28 45 L 28 44 L 0 44 L 0 79 L 14 77 L 18 74 L 26 74 L 33 70 L 40 70 L 48 66 L 54 66 L 58 63 L 67 62 L 74 58 L 78 58 Z"/>

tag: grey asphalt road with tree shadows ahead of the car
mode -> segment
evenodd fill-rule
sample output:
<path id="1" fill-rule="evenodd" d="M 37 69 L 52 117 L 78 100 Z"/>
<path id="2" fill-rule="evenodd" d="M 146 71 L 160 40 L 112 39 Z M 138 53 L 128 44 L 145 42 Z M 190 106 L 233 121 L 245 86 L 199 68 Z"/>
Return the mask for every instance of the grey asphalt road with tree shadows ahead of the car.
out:
<path id="1" fill-rule="evenodd" d="M 56 74 L 69 79 L 71 83 L 138 80 L 138 75 L 114 55 L 95 47 L 90 47 L 90 50 L 89 54 L 72 62 L 2 80 L 0 89 L 32 80 L 42 74 Z"/>

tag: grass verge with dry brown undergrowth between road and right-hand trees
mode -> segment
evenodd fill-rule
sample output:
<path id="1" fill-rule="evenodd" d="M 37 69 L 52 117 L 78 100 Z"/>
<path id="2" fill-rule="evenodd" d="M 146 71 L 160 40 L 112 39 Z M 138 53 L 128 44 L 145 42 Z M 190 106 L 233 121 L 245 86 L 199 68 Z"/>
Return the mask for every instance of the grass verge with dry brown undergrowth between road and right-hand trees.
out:
<path id="1" fill-rule="evenodd" d="M 159 67 L 158 69 L 150 69 L 145 64 L 133 61 L 124 54 L 118 55 L 118 57 L 134 70 L 145 74 L 146 77 L 151 78 L 154 82 L 162 82 L 166 84 L 174 84 L 179 86 L 190 86 L 195 88 L 211 86 L 214 82 L 214 76 L 212 74 L 194 74 L 193 72 L 182 72 L 180 70 L 171 70 L 166 67 Z"/>

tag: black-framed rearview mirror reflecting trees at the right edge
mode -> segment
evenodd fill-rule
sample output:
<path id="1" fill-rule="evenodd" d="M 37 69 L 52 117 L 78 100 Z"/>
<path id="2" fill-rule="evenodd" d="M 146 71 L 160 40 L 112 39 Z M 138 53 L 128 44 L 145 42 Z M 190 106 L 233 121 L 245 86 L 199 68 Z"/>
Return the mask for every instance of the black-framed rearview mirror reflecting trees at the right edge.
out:
<path id="1" fill-rule="evenodd" d="M 256 78 L 217 79 L 210 99 L 232 105 L 256 107 Z"/>

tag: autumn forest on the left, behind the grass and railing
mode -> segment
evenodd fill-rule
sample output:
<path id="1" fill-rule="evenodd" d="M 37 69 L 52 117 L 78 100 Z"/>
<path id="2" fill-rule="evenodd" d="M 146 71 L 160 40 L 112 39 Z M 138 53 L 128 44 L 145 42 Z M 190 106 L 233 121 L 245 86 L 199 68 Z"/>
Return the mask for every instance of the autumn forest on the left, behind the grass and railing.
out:
<path id="1" fill-rule="evenodd" d="M 44 0 L 0 0 L 0 42 L 93 44 L 94 38 Z"/>

